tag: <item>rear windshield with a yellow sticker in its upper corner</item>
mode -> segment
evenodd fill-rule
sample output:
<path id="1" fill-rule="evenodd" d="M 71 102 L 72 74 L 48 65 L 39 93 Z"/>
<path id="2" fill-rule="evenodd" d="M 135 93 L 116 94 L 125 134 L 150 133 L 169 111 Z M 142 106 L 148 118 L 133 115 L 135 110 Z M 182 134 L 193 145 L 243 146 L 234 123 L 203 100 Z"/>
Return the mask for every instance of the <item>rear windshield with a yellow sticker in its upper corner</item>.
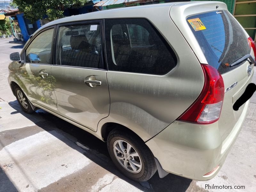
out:
<path id="1" fill-rule="evenodd" d="M 220 74 L 240 66 L 230 67 L 251 52 L 243 29 L 228 11 L 197 14 L 188 17 L 187 22 L 208 64 Z"/>

